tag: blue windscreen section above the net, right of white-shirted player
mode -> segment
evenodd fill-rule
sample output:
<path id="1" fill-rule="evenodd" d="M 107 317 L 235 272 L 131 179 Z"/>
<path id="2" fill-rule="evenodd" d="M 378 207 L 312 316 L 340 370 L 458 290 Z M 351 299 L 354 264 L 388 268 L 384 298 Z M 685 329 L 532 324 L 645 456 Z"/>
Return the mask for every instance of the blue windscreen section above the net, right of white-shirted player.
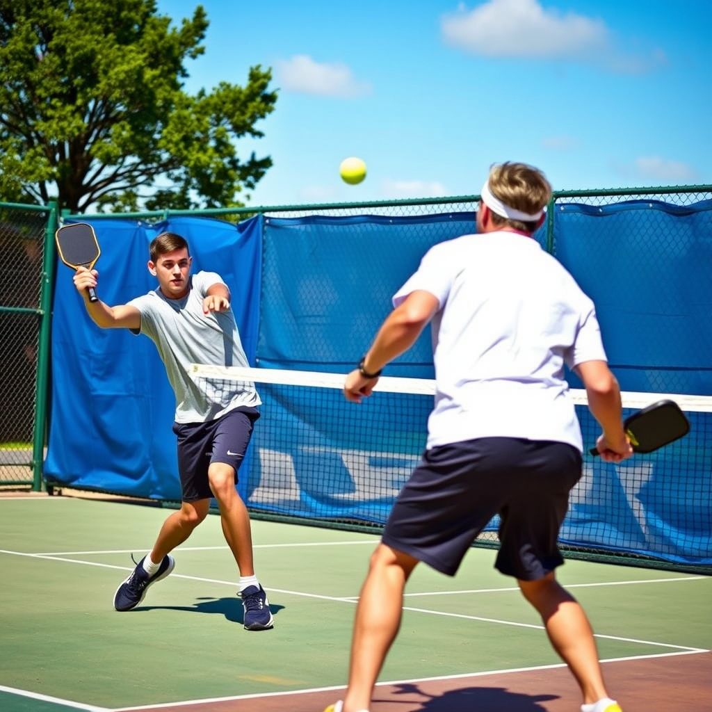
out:
<path id="1" fill-rule="evenodd" d="M 712 394 L 712 201 L 557 205 L 554 234 L 622 389 Z"/>

